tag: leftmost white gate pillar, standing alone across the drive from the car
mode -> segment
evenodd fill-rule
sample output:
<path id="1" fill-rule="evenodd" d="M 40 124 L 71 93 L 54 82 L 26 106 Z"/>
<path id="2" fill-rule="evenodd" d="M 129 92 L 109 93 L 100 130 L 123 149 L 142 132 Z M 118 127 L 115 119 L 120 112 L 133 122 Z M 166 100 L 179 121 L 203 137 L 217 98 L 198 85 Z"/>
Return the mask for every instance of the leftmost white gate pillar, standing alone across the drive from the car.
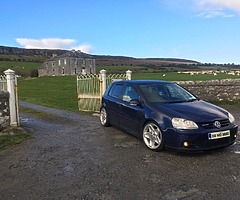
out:
<path id="1" fill-rule="evenodd" d="M 7 78 L 7 91 L 9 92 L 9 110 L 10 110 L 10 126 L 18 126 L 18 112 L 16 105 L 15 93 L 15 72 L 11 69 L 4 71 Z"/>

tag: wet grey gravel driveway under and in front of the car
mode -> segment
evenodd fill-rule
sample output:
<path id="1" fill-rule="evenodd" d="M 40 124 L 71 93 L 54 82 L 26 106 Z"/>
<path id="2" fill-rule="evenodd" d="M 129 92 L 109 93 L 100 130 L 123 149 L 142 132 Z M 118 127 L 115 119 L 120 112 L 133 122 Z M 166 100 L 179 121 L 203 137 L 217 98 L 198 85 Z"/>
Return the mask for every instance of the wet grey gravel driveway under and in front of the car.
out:
<path id="1" fill-rule="evenodd" d="M 54 117 L 21 113 L 33 137 L 0 151 L 1 200 L 239 199 L 240 136 L 226 149 L 157 153 L 97 116 L 20 105 Z"/>

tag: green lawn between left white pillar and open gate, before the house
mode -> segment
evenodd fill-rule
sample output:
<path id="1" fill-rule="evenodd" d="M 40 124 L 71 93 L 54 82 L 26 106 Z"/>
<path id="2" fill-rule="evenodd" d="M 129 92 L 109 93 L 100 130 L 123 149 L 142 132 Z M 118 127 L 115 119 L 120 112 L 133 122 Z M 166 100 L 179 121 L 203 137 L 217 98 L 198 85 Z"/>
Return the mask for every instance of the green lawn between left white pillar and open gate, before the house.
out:
<path id="1" fill-rule="evenodd" d="M 19 99 L 47 107 L 76 111 L 76 80 L 75 76 L 21 78 L 18 80 Z"/>

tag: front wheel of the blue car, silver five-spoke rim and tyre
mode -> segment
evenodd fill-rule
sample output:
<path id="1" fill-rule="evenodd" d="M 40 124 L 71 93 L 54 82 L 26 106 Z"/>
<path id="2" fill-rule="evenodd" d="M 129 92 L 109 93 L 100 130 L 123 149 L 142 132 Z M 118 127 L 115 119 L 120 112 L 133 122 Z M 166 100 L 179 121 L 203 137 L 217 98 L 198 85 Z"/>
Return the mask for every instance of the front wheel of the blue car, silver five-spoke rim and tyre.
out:
<path id="1" fill-rule="evenodd" d="M 164 138 L 159 126 L 155 122 L 148 122 L 143 127 L 143 141 L 153 151 L 164 148 Z"/>

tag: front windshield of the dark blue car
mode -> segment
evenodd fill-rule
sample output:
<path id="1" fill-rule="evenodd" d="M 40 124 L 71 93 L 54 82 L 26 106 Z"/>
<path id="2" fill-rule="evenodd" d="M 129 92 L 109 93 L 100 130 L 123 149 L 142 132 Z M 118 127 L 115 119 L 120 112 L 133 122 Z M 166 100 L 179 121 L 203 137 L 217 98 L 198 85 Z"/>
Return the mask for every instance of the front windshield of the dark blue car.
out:
<path id="1" fill-rule="evenodd" d="M 196 97 L 175 83 L 144 84 L 139 86 L 147 101 L 153 103 L 182 103 Z"/>

